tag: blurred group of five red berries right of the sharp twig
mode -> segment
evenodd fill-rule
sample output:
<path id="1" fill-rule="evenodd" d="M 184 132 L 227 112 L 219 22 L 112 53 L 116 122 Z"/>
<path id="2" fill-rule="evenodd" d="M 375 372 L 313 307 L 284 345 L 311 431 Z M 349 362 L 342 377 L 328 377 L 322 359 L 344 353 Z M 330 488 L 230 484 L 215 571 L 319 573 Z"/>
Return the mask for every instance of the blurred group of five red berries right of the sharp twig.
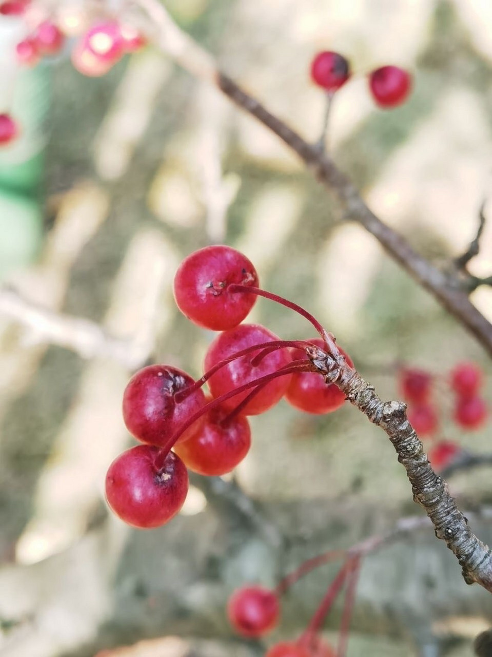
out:
<path id="1" fill-rule="evenodd" d="M 409 405 L 408 419 L 420 438 L 433 438 L 439 432 L 440 414 L 433 399 L 436 376 L 423 369 L 403 368 L 399 373 L 401 394 Z M 474 363 L 458 363 L 445 377 L 451 388 L 451 420 L 464 430 L 480 429 L 487 421 L 487 405 L 480 396 L 483 374 Z M 445 468 L 460 452 L 457 443 L 440 440 L 428 451 L 432 465 Z"/>

